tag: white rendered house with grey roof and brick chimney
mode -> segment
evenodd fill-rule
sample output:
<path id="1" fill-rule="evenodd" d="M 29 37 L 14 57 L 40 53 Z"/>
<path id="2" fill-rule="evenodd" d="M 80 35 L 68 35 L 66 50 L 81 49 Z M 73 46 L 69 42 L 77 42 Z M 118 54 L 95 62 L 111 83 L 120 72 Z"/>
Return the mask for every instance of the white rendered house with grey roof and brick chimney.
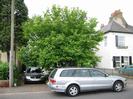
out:
<path id="1" fill-rule="evenodd" d="M 115 69 L 133 64 L 133 26 L 127 24 L 120 10 L 111 14 L 109 23 L 101 28 L 104 40 L 100 43 L 99 68 Z"/>

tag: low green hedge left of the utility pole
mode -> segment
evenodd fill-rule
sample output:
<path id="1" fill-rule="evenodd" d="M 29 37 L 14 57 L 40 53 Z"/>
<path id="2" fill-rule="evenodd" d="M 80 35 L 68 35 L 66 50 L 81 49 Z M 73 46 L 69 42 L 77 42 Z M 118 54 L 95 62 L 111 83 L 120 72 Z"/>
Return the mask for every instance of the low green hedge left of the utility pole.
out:
<path id="1" fill-rule="evenodd" d="M 8 77 L 8 63 L 0 62 L 0 80 L 7 80 Z"/>

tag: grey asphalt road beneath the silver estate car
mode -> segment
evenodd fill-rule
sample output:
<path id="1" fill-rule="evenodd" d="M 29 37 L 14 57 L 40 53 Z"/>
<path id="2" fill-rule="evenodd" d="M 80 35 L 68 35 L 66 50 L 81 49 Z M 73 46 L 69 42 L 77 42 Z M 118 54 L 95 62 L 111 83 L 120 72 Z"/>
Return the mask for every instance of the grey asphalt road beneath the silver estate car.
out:
<path id="1" fill-rule="evenodd" d="M 68 97 L 63 93 L 51 91 L 7 93 L 1 94 L 0 99 L 133 99 L 133 85 L 127 86 L 123 92 L 115 93 L 111 90 L 100 90 L 81 93 L 76 97 Z"/>

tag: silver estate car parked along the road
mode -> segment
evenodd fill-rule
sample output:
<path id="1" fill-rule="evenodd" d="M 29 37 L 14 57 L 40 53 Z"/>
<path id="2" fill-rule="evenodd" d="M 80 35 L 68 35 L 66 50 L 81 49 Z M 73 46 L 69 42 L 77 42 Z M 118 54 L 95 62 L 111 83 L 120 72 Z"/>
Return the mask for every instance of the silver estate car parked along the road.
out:
<path id="1" fill-rule="evenodd" d="M 120 92 L 126 78 L 111 76 L 94 68 L 57 68 L 49 75 L 48 87 L 55 92 L 76 96 L 83 91 L 113 89 Z"/>

